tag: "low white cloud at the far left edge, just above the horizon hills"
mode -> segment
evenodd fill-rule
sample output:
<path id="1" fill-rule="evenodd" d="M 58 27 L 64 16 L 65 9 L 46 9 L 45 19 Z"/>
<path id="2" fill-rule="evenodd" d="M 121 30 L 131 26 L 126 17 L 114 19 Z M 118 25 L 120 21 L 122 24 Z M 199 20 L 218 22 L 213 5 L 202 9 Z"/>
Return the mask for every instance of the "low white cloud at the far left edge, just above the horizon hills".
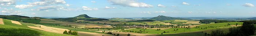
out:
<path id="1" fill-rule="evenodd" d="M 23 14 L 21 11 L 13 10 L 13 9 L 1 9 L 0 14 L 8 14 L 8 15 L 21 15 Z"/>

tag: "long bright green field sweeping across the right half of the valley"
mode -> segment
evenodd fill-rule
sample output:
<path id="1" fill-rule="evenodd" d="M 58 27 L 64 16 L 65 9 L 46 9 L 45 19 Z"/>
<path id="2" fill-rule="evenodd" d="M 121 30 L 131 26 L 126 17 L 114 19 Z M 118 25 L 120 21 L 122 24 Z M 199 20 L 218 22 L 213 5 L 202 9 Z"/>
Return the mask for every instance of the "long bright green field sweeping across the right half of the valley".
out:
<path id="1" fill-rule="evenodd" d="M 242 22 L 225 22 L 225 23 L 216 23 L 216 24 L 205 24 L 205 25 L 200 25 L 199 28 L 193 27 L 191 29 L 184 29 L 184 28 L 170 28 L 170 29 L 165 29 L 165 30 L 152 30 L 152 29 L 131 29 L 131 30 L 123 30 L 123 31 L 140 31 L 142 30 L 142 34 L 161 34 L 162 32 L 166 31 L 167 33 L 163 34 L 179 34 L 179 33 L 188 33 L 188 32 L 201 32 L 201 31 L 207 31 L 207 30 L 212 30 L 212 29 L 219 29 L 223 27 L 231 27 L 231 26 L 225 26 L 227 24 L 235 25 L 236 23 L 242 24 Z M 208 26 L 213 26 L 213 27 L 208 27 Z M 201 29 L 207 27 L 207 29 Z M 177 31 L 174 31 L 177 30 Z M 145 31 L 144 31 L 145 30 Z"/>

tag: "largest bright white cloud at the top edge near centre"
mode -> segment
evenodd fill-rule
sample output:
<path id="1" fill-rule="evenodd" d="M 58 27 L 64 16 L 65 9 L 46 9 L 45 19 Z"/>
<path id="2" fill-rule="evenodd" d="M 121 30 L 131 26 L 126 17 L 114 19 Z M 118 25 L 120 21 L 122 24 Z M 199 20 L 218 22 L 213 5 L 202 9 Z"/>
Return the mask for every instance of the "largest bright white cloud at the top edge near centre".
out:
<path id="1" fill-rule="evenodd" d="M 153 5 L 149 5 L 142 2 L 137 2 L 137 0 L 107 0 L 112 3 L 112 5 L 120 5 L 120 6 L 129 6 L 129 7 L 154 7 Z"/>

